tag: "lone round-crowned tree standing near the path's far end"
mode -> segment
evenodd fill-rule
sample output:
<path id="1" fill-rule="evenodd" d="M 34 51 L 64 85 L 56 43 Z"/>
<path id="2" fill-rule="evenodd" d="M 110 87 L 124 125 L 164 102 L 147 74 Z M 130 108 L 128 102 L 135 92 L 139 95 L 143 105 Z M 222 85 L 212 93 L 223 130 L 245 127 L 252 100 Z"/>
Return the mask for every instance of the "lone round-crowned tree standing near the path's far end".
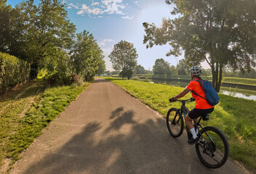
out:
<path id="1" fill-rule="evenodd" d="M 133 43 L 120 41 L 113 46 L 113 51 L 108 56 L 111 58 L 112 67 L 114 70 L 120 70 L 120 75 L 128 79 L 132 77 L 137 64 L 137 51 Z"/>

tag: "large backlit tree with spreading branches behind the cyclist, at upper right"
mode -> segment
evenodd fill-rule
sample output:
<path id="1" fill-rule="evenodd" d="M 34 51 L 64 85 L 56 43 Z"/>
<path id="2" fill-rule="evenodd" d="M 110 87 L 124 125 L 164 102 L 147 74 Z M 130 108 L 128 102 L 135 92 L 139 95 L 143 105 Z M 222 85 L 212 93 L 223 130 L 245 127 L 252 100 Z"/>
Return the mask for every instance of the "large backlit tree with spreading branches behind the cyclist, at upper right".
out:
<path id="1" fill-rule="evenodd" d="M 143 23 L 147 48 L 169 43 L 167 55 L 185 51 L 190 65 L 206 61 L 212 70 L 212 85 L 220 91 L 224 67 L 249 71 L 255 67 L 256 3 L 250 0 L 166 0 L 175 4 L 174 20 L 163 19 L 160 28 Z"/>

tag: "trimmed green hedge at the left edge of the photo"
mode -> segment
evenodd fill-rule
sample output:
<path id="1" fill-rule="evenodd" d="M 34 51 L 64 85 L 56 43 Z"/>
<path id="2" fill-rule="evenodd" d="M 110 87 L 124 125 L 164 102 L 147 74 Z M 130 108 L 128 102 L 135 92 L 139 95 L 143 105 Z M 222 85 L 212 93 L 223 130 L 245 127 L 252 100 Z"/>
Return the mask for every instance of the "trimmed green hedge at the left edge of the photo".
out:
<path id="1" fill-rule="evenodd" d="M 29 79 L 31 65 L 22 59 L 0 52 L 0 93 Z"/>

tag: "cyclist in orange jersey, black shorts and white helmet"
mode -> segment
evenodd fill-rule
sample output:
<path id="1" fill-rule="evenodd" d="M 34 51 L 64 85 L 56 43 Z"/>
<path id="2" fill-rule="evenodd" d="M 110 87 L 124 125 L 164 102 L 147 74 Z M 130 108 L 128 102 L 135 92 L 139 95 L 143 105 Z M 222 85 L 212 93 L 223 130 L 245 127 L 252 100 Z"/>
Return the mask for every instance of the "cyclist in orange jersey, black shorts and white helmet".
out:
<path id="1" fill-rule="evenodd" d="M 200 96 L 204 95 L 204 91 L 201 88 L 199 82 L 196 80 L 201 80 L 200 75 L 202 71 L 199 66 L 193 66 L 191 67 L 191 82 L 188 84 L 188 86 L 182 91 L 180 94 L 177 94 L 177 96 L 172 97 L 172 99 L 169 99 L 170 102 L 173 102 L 177 99 L 180 99 L 181 97 L 188 94 L 188 92 L 195 91 L 196 94 L 199 94 Z M 188 115 L 185 116 L 185 123 L 187 124 L 189 130 L 191 130 L 192 136 L 190 139 L 188 139 L 188 144 L 196 144 L 199 142 L 199 137 L 196 135 L 196 130 L 193 127 L 192 120 L 200 117 L 201 115 L 207 115 L 211 113 L 214 110 L 214 107 L 212 105 L 208 104 L 208 102 L 205 99 L 202 99 L 199 96 L 196 96 L 192 93 L 192 96 L 194 99 L 196 99 L 196 107 L 192 109 L 190 112 L 188 112 Z"/>

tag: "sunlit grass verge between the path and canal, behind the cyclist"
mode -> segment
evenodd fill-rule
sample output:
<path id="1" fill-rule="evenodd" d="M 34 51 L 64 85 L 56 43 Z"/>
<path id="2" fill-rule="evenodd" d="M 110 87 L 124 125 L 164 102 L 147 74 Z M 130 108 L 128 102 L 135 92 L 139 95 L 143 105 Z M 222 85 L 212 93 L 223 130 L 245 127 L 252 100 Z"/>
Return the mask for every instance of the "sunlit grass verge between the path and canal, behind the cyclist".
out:
<path id="1" fill-rule="evenodd" d="M 171 107 L 180 107 L 179 103 L 169 104 L 168 99 L 177 95 L 184 88 L 165 86 L 155 83 L 147 83 L 137 80 L 122 80 L 117 78 L 105 78 L 116 85 L 121 86 L 132 96 L 140 99 L 152 109 L 167 114 Z M 256 123 L 255 106 L 256 101 L 239 99 L 232 96 L 220 95 L 220 104 L 217 104 L 212 112 L 209 122 L 204 125 L 212 125 L 225 133 L 230 147 L 231 159 L 241 162 L 248 170 L 256 172 Z M 191 94 L 183 97 L 191 98 Z M 194 102 L 188 103 L 187 107 L 192 109 Z"/>

